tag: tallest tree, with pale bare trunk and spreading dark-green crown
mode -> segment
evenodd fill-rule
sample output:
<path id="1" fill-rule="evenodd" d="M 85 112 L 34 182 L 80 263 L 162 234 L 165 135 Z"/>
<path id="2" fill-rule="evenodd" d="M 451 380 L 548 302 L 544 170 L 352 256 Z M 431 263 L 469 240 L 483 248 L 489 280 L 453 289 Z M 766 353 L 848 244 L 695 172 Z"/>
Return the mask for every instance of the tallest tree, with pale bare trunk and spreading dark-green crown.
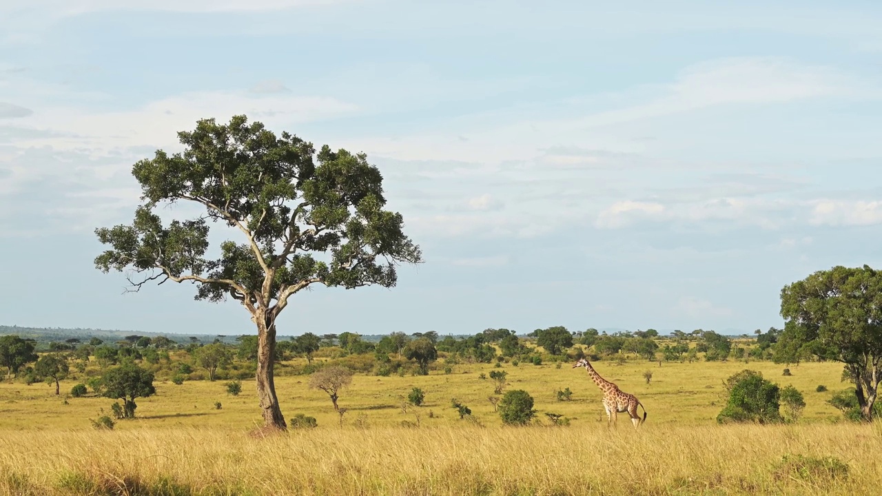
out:
<path id="1" fill-rule="evenodd" d="M 395 266 L 422 261 L 384 209 L 383 177 L 364 154 L 322 147 L 234 116 L 200 120 L 178 132 L 183 153 L 157 150 L 134 165 L 143 204 L 131 225 L 97 229 L 110 249 L 95 259 L 105 273 L 128 270 L 135 290 L 148 282 L 198 284 L 196 299 L 232 297 L 258 330 L 257 388 L 265 425 L 286 428 L 273 384 L 276 319 L 312 284 L 346 289 L 395 285 Z M 204 214 L 163 222 L 162 204 L 187 202 Z M 209 258 L 210 224 L 237 231 Z M 232 234 L 230 235 L 233 236 Z"/>

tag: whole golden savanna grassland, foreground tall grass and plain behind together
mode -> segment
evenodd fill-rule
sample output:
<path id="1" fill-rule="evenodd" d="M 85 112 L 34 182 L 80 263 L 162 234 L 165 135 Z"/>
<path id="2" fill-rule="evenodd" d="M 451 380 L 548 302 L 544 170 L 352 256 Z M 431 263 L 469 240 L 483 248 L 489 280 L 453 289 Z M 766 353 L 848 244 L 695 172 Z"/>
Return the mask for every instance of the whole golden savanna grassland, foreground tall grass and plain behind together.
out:
<path id="1" fill-rule="evenodd" d="M 0 494 L 870 494 L 882 491 L 882 429 L 844 422 L 826 404 L 841 365 L 771 362 L 599 361 L 596 369 L 638 395 L 647 424 L 635 431 L 602 418 L 601 394 L 570 364 L 503 364 L 506 390 L 534 397 L 539 423 L 503 426 L 488 401 L 491 364 L 456 364 L 451 373 L 377 377 L 355 374 L 340 393 L 340 416 L 308 376 L 280 377 L 288 418 L 304 413 L 315 429 L 260 435 L 253 384 L 238 396 L 224 380 L 156 380 L 138 399 L 137 417 L 113 431 L 90 418 L 107 398 L 56 397 L 54 387 L 0 385 Z M 723 380 L 745 368 L 806 402 L 788 425 L 717 425 Z M 644 372 L 653 372 L 649 384 Z M 65 381 L 62 391 L 70 391 Z M 818 393 L 818 385 L 826 392 Z M 413 387 L 421 407 L 401 403 Z M 572 401 L 557 401 L 569 387 Z M 456 398 L 473 421 L 451 407 Z M 221 409 L 215 402 L 221 402 Z M 543 414 L 571 420 L 552 426 Z M 541 424 L 540 424 L 541 423 Z M 800 458 L 800 456 L 805 458 Z"/>

